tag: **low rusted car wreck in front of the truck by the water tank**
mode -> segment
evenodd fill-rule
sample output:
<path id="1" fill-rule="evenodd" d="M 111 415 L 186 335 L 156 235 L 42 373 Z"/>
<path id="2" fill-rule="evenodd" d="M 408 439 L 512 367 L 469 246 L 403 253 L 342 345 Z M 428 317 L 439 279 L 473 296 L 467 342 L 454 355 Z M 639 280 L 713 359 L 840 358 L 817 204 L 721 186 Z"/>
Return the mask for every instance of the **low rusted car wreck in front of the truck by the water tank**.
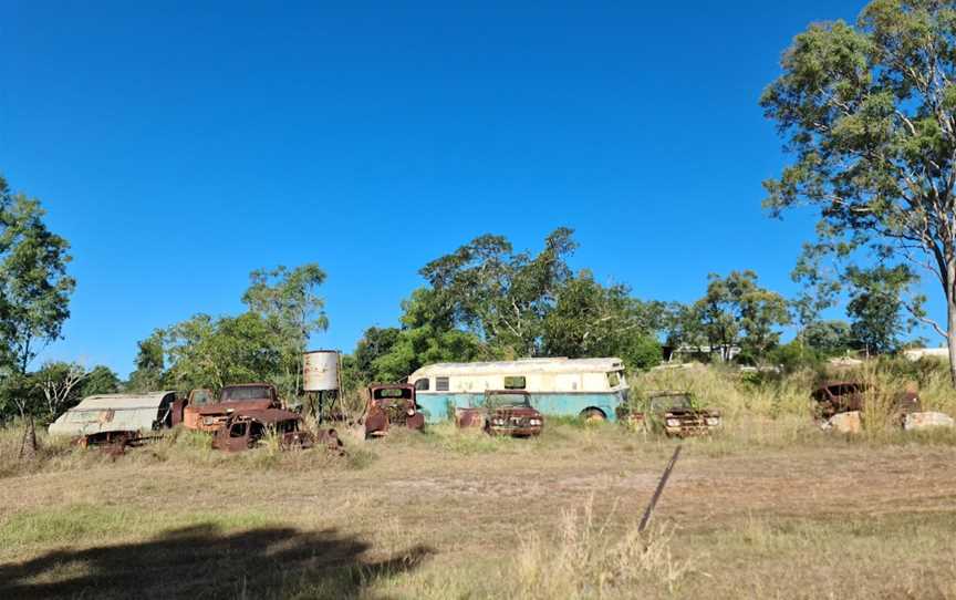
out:
<path id="1" fill-rule="evenodd" d="M 281 408 L 237 411 L 229 415 L 212 438 L 212 447 L 226 452 L 242 452 L 263 443 L 274 435 L 280 449 L 305 449 L 322 445 L 342 452 L 342 441 L 335 430 L 323 430 L 318 439 L 302 430 L 302 418 Z"/>

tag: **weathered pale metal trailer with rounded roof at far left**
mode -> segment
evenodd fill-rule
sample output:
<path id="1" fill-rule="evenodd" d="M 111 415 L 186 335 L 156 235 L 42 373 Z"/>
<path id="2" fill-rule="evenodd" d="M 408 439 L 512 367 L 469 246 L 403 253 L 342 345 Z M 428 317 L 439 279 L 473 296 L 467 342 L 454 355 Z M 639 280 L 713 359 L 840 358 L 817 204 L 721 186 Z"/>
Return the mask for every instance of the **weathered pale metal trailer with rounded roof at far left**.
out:
<path id="1" fill-rule="evenodd" d="M 50 424 L 50 435 L 83 445 L 131 444 L 175 424 L 176 392 L 87 396 Z"/>

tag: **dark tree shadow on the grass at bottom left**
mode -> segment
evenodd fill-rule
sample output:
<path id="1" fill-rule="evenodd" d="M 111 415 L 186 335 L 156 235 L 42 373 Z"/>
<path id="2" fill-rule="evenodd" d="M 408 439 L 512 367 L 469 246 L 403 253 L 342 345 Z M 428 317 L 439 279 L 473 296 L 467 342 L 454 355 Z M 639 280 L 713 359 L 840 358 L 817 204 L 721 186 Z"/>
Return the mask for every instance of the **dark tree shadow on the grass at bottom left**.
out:
<path id="1" fill-rule="evenodd" d="M 355 598 L 434 554 L 416 546 L 372 561 L 364 556 L 370 549 L 334 530 L 224 534 L 200 525 L 144 542 L 61 549 L 0 565 L 0 598 Z"/>

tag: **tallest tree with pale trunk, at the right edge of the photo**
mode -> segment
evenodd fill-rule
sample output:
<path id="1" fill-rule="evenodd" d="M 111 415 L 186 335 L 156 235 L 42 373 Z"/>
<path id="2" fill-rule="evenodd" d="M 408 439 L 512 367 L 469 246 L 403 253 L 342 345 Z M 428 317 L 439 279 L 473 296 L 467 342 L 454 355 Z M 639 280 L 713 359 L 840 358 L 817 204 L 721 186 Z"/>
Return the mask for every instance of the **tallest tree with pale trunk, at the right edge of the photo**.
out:
<path id="1" fill-rule="evenodd" d="M 874 0 L 855 27 L 810 25 L 782 68 L 760 104 L 794 161 L 765 183 L 765 205 L 818 208 L 831 254 L 932 272 L 946 323 L 913 312 L 947 339 L 956 385 L 956 9 Z"/>

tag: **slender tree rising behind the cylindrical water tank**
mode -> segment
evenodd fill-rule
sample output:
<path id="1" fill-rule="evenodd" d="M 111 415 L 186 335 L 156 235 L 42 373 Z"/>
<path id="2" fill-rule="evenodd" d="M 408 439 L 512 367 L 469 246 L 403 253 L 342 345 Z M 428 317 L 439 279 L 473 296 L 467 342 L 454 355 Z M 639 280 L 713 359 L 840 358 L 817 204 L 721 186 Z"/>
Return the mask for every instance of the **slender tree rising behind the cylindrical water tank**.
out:
<path id="1" fill-rule="evenodd" d="M 325 301 L 315 293 L 325 272 L 315 263 L 288 269 L 256 270 L 242 302 L 273 332 L 272 348 L 281 353 L 283 376 L 278 382 L 287 397 L 299 394 L 302 354 L 316 331 L 329 329 Z"/>

